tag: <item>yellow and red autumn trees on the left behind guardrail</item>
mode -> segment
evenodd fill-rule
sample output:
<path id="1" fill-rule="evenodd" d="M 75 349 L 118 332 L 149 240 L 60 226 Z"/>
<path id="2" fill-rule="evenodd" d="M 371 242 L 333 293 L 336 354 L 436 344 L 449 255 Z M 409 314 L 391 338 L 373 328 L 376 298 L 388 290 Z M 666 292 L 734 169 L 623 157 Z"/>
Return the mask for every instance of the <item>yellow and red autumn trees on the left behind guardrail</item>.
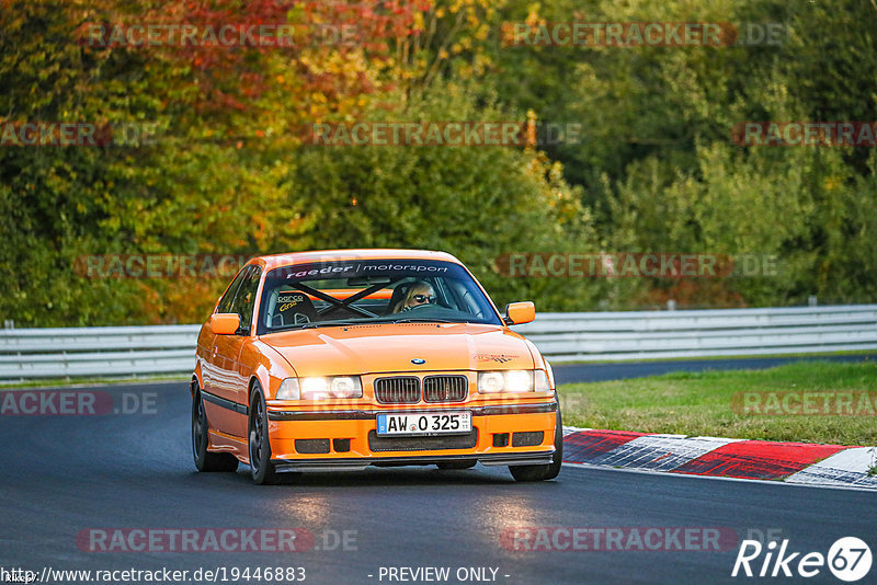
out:
<path id="1" fill-rule="evenodd" d="M 151 145 L 0 148 L 0 312 L 26 324 L 194 322 L 226 283 L 87 279 L 106 253 L 261 253 L 295 236 L 286 207 L 303 121 L 351 112 L 377 91 L 383 37 L 410 10 L 321 2 L 3 0 L 0 112 L 11 123 L 149 122 Z M 282 22 L 291 47 L 134 46 L 113 27 Z M 319 43 L 355 22 L 367 43 Z"/>

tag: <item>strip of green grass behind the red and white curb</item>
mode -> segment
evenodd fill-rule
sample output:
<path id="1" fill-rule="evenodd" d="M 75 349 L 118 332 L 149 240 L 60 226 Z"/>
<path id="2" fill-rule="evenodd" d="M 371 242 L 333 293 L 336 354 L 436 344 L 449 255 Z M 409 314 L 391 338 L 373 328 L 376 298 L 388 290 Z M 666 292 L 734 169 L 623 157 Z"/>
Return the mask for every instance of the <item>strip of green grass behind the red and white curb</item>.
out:
<path id="1" fill-rule="evenodd" d="M 763 370 L 672 372 L 559 387 L 563 423 L 591 428 L 877 445 L 877 364 L 799 362 Z M 744 414 L 743 392 L 870 392 L 858 415 Z M 734 397 L 737 394 L 737 397 Z M 821 404 L 821 402 L 819 402 Z M 790 404 L 796 404 L 794 401 Z M 776 412 L 776 411 L 773 411 Z"/>

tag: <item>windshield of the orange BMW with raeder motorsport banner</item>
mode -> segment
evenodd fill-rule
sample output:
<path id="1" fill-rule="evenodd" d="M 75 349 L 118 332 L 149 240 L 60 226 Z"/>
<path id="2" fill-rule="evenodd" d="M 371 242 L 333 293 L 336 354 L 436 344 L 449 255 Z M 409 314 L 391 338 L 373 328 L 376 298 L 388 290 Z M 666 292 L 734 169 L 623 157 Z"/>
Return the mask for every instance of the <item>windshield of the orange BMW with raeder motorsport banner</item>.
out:
<path id="1" fill-rule="evenodd" d="M 417 321 L 501 324 L 490 300 L 458 264 L 357 260 L 271 271 L 262 289 L 258 334 Z"/>

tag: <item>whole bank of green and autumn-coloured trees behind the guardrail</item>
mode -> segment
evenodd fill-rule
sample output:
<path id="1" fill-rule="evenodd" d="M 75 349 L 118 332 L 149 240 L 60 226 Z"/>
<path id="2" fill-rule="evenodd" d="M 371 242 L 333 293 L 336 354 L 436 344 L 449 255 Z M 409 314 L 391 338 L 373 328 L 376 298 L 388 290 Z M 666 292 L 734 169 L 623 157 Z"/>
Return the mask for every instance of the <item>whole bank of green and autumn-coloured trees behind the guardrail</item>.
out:
<path id="1" fill-rule="evenodd" d="M 548 310 L 869 301 L 877 290 L 873 149 L 731 137 L 747 119 L 874 119 L 877 9 L 867 2 L 0 8 L 0 124 L 155 129 L 124 146 L 0 146 L 0 313 L 19 325 L 198 322 L 227 284 L 83 278 L 75 266 L 87 254 L 435 248 L 471 265 L 499 300 Z M 519 47 L 503 36 L 509 23 L 579 20 L 778 22 L 788 35 L 722 48 Z M 126 31 L 150 24 L 246 34 L 230 45 L 128 42 Z M 272 43 L 262 26 L 285 26 L 294 42 Z M 315 124 L 358 121 L 574 123 L 582 135 L 489 148 L 303 144 Z M 506 278 L 496 263 L 600 251 L 775 254 L 779 274 Z"/>

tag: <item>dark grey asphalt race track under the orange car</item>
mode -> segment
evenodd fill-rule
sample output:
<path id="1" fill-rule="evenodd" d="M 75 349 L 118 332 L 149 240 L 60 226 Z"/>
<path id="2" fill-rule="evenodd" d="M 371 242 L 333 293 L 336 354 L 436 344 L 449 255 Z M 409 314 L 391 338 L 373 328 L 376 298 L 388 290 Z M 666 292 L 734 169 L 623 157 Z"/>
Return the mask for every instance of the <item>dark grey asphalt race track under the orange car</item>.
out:
<path id="1" fill-rule="evenodd" d="M 565 377 L 569 371 L 558 369 Z M 519 527 L 730 528 L 740 539 L 772 531 L 789 540 L 789 551 L 822 554 L 838 538 L 856 536 L 877 552 L 877 498 L 861 491 L 572 466 L 540 484 L 515 483 L 505 469 L 480 466 L 306 474 L 275 486 L 253 485 L 244 466 L 234 474 L 198 474 L 185 385 L 100 390 L 117 403 L 123 394 L 151 397 L 155 408 L 127 415 L 0 417 L 3 570 L 303 566 L 305 583 L 339 584 L 405 583 L 379 578 L 381 567 L 426 566 L 449 567 L 448 583 L 490 582 L 458 581 L 458 567 L 496 569 L 494 582 L 508 584 L 801 581 L 732 578 L 736 544 L 718 552 L 510 550 L 503 534 Z M 315 547 L 283 553 L 89 552 L 77 535 L 92 528 L 297 528 L 315 535 Z M 344 531 L 348 546 L 337 546 Z M 491 571 L 486 574 L 490 578 Z M 806 581 L 839 583 L 827 567 Z M 875 582 L 877 567 L 859 583 Z"/>

